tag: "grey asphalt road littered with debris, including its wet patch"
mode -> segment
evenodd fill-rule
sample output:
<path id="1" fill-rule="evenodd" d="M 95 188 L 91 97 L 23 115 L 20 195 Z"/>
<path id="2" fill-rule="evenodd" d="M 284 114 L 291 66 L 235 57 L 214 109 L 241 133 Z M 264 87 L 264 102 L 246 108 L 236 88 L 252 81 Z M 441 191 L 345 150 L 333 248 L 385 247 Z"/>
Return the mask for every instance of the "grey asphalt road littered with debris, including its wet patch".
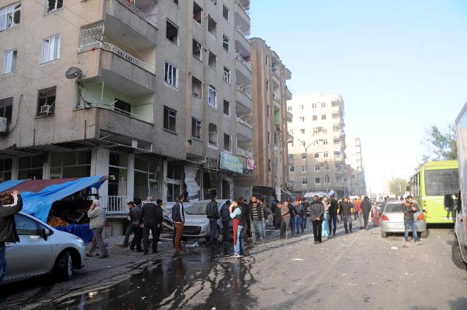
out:
<path id="1" fill-rule="evenodd" d="M 382 239 L 377 228 L 349 235 L 340 228 L 322 244 L 310 230 L 276 236 L 242 259 L 229 257 L 230 245 L 182 255 L 167 246 L 133 275 L 74 289 L 62 283 L 60 295 L 41 295 L 36 283 L 27 299 L 28 289 L 8 295 L 4 309 L 467 309 L 467 272 L 451 262 L 452 230 L 430 230 L 408 249 L 402 235 Z"/>

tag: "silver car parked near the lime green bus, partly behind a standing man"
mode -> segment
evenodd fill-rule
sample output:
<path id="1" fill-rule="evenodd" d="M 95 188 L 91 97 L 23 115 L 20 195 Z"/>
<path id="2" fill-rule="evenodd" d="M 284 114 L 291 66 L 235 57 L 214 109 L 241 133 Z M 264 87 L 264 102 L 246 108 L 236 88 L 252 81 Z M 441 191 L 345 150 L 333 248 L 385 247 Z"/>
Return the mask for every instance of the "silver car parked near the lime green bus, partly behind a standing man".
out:
<path id="1" fill-rule="evenodd" d="M 426 238 L 428 235 L 427 222 L 425 221 L 425 216 L 420 210 L 417 202 L 413 202 L 417 211 L 413 214 L 415 219 L 417 232 L 420 233 L 420 236 Z M 410 228 L 409 231 L 412 231 Z M 388 202 L 381 216 L 381 237 L 387 237 L 388 233 L 404 233 L 404 211 L 402 211 L 401 202 Z"/>

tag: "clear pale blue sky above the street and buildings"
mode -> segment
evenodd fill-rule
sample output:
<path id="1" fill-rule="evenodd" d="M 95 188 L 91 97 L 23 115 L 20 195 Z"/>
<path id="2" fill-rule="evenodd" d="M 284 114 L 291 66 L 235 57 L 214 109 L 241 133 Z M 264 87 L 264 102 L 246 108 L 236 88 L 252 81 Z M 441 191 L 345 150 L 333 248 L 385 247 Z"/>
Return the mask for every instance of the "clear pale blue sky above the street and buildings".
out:
<path id="1" fill-rule="evenodd" d="M 252 0 L 250 16 L 294 95 L 341 93 L 373 192 L 411 175 L 426 129 L 467 101 L 467 0 Z"/>

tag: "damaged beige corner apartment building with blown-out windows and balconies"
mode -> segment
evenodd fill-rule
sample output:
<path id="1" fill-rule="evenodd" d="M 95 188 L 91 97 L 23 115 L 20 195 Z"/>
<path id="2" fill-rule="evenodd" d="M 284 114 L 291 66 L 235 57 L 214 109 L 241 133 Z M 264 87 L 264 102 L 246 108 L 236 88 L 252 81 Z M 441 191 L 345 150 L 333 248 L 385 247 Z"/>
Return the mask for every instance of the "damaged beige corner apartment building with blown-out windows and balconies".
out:
<path id="1" fill-rule="evenodd" d="M 233 198 L 253 159 L 249 0 L 0 0 L 0 179 Z M 251 166 L 251 165 L 250 165 Z"/>

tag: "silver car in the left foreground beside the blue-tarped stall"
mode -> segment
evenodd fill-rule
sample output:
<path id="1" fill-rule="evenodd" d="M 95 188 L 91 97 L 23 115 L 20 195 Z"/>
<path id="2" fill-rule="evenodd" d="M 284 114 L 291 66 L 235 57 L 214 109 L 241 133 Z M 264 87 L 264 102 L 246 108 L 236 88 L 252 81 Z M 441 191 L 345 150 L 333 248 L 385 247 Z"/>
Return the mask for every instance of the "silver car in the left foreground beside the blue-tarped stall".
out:
<path id="1" fill-rule="evenodd" d="M 86 249 L 80 237 L 23 212 L 15 215 L 15 223 L 20 242 L 6 242 L 7 268 L 1 285 L 48 273 L 70 280 L 74 269 L 84 267 Z"/>

